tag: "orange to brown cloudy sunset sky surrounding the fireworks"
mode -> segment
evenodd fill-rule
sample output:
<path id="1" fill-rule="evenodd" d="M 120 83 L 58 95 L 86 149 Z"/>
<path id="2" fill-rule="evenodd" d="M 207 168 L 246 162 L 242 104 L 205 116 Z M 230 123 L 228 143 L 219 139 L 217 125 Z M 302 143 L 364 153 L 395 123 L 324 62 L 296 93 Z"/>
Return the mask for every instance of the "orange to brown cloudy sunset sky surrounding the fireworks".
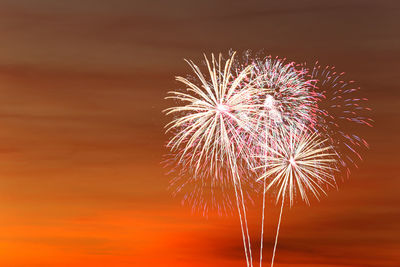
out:
<path id="1" fill-rule="evenodd" d="M 238 218 L 191 214 L 160 166 L 183 58 L 229 48 L 335 65 L 374 108 L 351 180 L 285 212 L 276 266 L 400 266 L 399 18 L 399 1 L 2 0 L 0 266 L 244 266 Z"/>

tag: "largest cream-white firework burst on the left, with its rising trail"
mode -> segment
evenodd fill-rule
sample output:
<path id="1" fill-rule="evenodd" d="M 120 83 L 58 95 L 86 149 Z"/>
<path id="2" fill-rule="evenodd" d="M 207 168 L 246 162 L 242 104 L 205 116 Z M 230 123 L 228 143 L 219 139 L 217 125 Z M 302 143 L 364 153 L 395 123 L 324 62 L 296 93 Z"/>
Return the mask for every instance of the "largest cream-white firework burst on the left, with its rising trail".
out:
<path id="1" fill-rule="evenodd" d="M 250 158 L 246 137 L 252 132 L 248 117 L 256 112 L 252 100 L 256 90 L 246 82 L 252 66 L 245 67 L 238 75 L 232 75 L 235 54 L 223 62 L 211 55 L 211 62 L 205 56 L 210 80 L 192 61 L 187 61 L 195 73 L 195 79 L 177 77 L 186 86 L 186 91 L 172 91 L 167 99 L 173 99 L 178 106 L 166 110 L 176 116 L 167 124 L 167 132 L 175 131 L 167 146 L 178 152 L 179 163 L 190 164 L 194 173 L 204 177 L 210 172 L 220 177 L 219 170 L 230 170 L 229 177 L 235 189 L 236 204 L 241 223 L 243 245 L 248 266 L 252 266 L 250 235 L 238 163 Z M 225 64 L 223 64 L 225 63 Z M 220 180 L 215 179 L 216 182 Z"/>

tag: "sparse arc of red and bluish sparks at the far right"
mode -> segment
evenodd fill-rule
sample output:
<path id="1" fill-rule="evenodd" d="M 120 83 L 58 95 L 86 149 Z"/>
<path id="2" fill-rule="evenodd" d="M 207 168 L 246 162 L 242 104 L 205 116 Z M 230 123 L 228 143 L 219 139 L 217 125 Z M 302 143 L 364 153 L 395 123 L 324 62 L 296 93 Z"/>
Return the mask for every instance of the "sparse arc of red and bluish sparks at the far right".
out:
<path id="1" fill-rule="evenodd" d="M 361 151 L 368 143 L 359 136 L 362 126 L 372 126 L 368 99 L 359 96 L 360 88 L 354 81 L 346 81 L 344 73 L 335 67 L 315 64 L 310 71 L 318 95 L 318 123 L 316 128 L 329 139 L 344 177 L 362 160 Z"/>

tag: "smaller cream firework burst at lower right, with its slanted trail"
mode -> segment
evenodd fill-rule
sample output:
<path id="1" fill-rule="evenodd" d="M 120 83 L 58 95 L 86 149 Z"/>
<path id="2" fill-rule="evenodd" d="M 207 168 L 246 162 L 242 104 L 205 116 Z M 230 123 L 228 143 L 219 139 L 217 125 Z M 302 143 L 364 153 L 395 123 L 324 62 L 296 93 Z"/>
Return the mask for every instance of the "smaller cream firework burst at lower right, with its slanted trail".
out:
<path id="1" fill-rule="evenodd" d="M 269 153 L 264 156 L 264 174 L 259 178 L 270 179 L 266 190 L 277 191 L 276 202 L 281 200 L 281 210 L 275 236 L 271 267 L 274 265 L 279 229 L 285 199 L 290 206 L 295 195 L 309 204 L 309 194 L 319 199 L 326 194 L 326 188 L 334 187 L 335 159 L 326 139 L 310 133 L 305 127 L 293 129 L 281 127 L 277 130 L 275 147 L 267 146 Z"/>

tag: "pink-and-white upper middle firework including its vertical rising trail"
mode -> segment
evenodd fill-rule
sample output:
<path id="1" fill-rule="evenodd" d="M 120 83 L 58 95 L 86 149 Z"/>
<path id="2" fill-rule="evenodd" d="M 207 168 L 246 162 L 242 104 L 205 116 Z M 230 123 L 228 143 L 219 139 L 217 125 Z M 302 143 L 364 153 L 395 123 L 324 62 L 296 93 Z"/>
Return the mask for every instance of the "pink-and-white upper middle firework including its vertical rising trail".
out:
<path id="1" fill-rule="evenodd" d="M 254 154 L 261 155 L 260 158 L 265 160 L 270 154 L 266 148 L 274 146 L 275 140 L 279 138 L 274 134 L 277 129 L 312 126 L 315 123 L 316 97 L 311 90 L 311 81 L 305 75 L 306 70 L 297 68 L 294 62 L 287 63 L 283 59 L 265 57 L 257 58 L 251 64 L 253 65 L 251 78 L 253 86 L 258 89 L 257 108 L 259 108 L 257 116 L 253 118 L 255 121 L 253 127 L 257 129 L 259 136 L 252 148 Z M 256 166 L 259 164 L 259 161 L 255 162 Z M 268 164 L 265 164 L 263 171 L 268 168 Z M 265 197 L 266 179 L 263 185 L 260 266 L 263 256 Z"/>

